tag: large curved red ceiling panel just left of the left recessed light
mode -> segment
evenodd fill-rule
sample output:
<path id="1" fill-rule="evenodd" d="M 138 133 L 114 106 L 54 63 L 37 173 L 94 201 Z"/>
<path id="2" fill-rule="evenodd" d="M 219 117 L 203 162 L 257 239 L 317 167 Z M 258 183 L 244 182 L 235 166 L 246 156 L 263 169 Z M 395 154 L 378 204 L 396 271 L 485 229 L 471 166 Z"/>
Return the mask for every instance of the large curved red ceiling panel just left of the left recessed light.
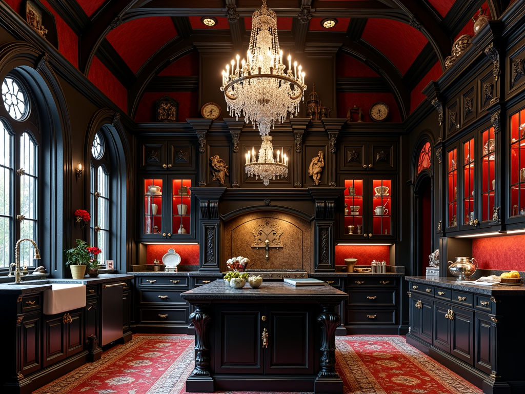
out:
<path id="1" fill-rule="evenodd" d="M 131 70 L 139 68 L 158 49 L 177 36 L 169 16 L 133 19 L 108 33 L 109 43 Z"/>

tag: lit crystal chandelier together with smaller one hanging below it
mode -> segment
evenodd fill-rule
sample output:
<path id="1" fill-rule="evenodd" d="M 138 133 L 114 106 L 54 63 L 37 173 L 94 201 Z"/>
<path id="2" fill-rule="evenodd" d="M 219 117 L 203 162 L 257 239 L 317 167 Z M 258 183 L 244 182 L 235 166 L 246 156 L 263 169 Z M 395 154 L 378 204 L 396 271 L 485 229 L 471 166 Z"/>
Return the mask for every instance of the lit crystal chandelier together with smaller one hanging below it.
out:
<path id="1" fill-rule="evenodd" d="M 226 65 L 223 71 L 224 98 L 229 115 L 244 116 L 257 126 L 262 137 L 258 159 L 255 150 L 246 154 L 245 170 L 248 176 L 262 179 L 268 185 L 270 179 L 286 176 L 288 167 L 286 155 L 278 151 L 274 159 L 274 148 L 268 136 L 275 122 L 283 122 L 288 112 L 290 117 L 299 114 L 299 105 L 303 99 L 306 84 L 304 72 L 297 61 L 291 63 L 288 56 L 288 69 L 285 72 L 282 50 L 277 36 L 277 16 L 266 6 L 262 6 L 251 16 L 251 36 L 247 60 L 243 59 L 239 68 L 239 55 L 232 60 L 232 69 Z"/>

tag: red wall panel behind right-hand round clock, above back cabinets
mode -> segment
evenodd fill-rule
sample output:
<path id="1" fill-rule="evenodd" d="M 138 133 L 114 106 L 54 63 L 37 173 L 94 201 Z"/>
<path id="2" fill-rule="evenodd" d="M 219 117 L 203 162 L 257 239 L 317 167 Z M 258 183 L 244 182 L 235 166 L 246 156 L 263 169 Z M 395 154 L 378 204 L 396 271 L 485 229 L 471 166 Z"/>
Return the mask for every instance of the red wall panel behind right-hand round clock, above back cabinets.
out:
<path id="1" fill-rule="evenodd" d="M 397 108 L 394 96 L 391 93 L 350 93 L 340 92 L 337 94 L 337 117 L 346 118 L 346 111 L 354 105 L 363 110 L 363 122 L 371 122 L 369 116 L 370 107 L 377 101 L 384 102 L 390 109 L 387 122 L 401 122 L 401 115 Z M 334 117 L 332 115 L 332 117 Z"/>

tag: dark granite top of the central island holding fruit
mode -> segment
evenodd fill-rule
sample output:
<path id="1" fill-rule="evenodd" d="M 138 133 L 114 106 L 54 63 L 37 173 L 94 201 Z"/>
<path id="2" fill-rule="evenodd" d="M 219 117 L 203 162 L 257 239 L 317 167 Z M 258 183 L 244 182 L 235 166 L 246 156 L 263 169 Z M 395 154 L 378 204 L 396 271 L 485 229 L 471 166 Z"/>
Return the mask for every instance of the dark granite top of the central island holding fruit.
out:
<path id="1" fill-rule="evenodd" d="M 331 301 L 339 302 L 348 298 L 348 294 L 333 288 L 330 285 L 322 286 L 293 286 L 283 282 L 262 282 L 259 288 L 251 288 L 246 284 L 243 288 L 234 289 L 224 281 L 215 281 L 204 286 L 184 292 L 181 297 L 192 300 L 209 300 L 211 302 L 235 302 L 250 300 L 251 302 L 265 303 L 271 300 L 287 302 Z"/>

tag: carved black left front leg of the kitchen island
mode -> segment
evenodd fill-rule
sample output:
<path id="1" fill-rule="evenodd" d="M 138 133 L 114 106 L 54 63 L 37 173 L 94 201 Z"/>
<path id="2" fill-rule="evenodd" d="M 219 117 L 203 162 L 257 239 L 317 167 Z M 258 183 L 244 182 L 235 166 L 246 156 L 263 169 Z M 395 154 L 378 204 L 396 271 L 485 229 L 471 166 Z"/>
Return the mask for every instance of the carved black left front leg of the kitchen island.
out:
<path id="1" fill-rule="evenodd" d="M 195 305 L 190 322 L 195 327 L 195 368 L 186 379 L 187 392 L 213 392 L 213 378 L 209 373 L 208 327 L 211 317 L 207 305 Z"/>

